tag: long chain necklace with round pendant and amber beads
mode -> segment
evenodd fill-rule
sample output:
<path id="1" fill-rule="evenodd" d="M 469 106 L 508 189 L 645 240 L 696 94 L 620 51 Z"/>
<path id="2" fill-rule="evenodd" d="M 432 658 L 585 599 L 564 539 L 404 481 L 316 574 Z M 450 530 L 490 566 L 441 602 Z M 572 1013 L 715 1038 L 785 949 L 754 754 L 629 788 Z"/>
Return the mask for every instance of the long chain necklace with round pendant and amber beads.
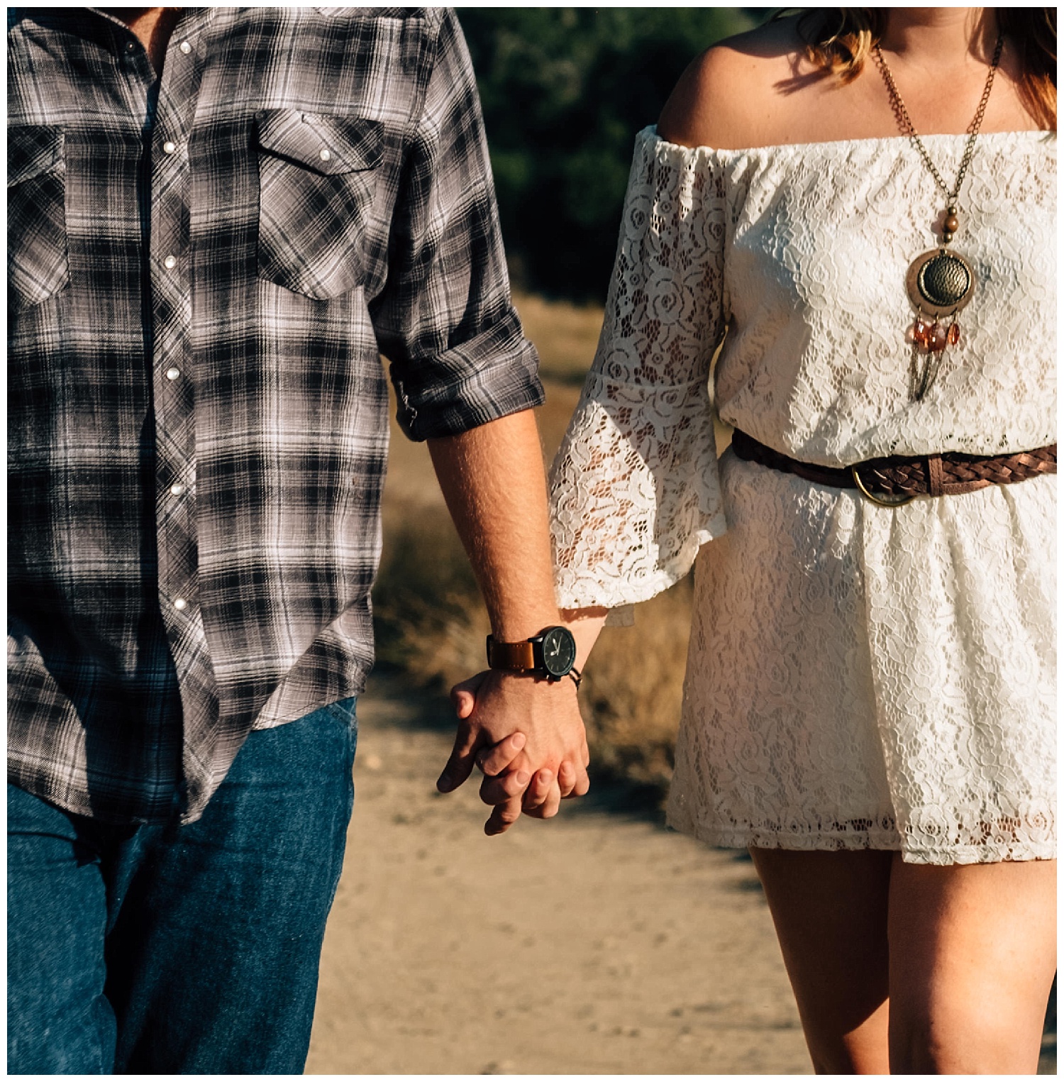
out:
<path id="1" fill-rule="evenodd" d="M 990 88 L 994 85 L 994 75 L 997 71 L 998 62 L 1001 60 L 1003 45 L 1005 38 L 999 34 L 997 44 L 994 48 L 994 58 L 990 61 L 990 70 L 986 76 L 986 85 L 983 88 L 983 96 L 980 98 L 979 108 L 975 110 L 972 122 L 968 126 L 968 143 L 965 146 L 965 154 L 960 159 L 960 170 L 952 192 L 946 186 L 939 170 L 935 169 L 927 147 L 913 127 L 908 110 L 905 108 L 902 95 L 897 92 L 894 78 L 890 74 L 890 68 L 887 67 L 879 45 L 875 47 L 876 63 L 879 65 L 883 82 L 887 83 L 887 92 L 890 94 L 897 124 L 903 134 L 908 135 L 913 145 L 919 150 L 923 163 L 931 171 L 935 183 L 946 197 L 946 211 L 942 221 L 942 243 L 937 248 L 932 248 L 918 255 L 910 264 L 905 277 L 905 288 L 909 301 L 916 308 L 916 321 L 909 331 L 913 342 L 913 355 L 909 364 L 909 398 L 914 401 L 923 398 L 934 384 L 939 369 L 942 367 L 946 346 L 957 345 L 960 342 L 957 313 L 968 304 L 975 291 L 975 272 L 972 269 L 971 263 L 958 252 L 948 250 L 946 246 L 960 228 L 960 220 L 957 216 L 957 197 L 960 195 L 960 186 L 965 181 L 965 174 L 968 172 L 972 154 L 975 150 L 975 136 L 983 123 L 983 114 L 986 111 L 986 103 L 990 97 Z"/>

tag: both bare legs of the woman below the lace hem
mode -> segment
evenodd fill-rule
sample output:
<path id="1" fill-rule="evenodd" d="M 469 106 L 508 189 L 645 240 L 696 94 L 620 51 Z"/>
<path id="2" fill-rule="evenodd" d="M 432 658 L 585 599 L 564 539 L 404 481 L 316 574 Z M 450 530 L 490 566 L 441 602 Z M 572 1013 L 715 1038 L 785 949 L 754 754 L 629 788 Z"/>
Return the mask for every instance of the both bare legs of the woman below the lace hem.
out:
<path id="1" fill-rule="evenodd" d="M 750 854 L 817 1072 L 1034 1073 L 1056 964 L 1055 861 Z"/>

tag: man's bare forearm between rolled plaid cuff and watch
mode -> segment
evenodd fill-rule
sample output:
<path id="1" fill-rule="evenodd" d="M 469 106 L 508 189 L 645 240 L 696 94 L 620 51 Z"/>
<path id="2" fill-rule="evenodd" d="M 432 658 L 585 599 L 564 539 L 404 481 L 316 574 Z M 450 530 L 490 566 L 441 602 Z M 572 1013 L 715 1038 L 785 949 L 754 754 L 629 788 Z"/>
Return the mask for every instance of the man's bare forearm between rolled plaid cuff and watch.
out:
<path id="1" fill-rule="evenodd" d="M 519 642 L 559 623 L 543 451 L 532 410 L 429 439 L 428 449 L 492 634 Z"/>

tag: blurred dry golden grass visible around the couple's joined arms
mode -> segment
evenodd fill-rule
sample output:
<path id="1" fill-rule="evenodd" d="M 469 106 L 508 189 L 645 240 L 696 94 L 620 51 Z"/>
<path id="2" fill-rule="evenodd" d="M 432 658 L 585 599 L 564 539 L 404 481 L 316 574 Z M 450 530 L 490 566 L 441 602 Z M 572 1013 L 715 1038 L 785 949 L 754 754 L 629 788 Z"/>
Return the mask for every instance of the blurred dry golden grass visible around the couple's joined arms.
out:
<path id="1" fill-rule="evenodd" d="M 540 351 L 540 410 L 549 461 L 595 354 L 601 309 L 518 295 Z M 447 515 L 425 448 L 395 432 L 384 501 L 384 562 L 374 588 L 381 663 L 443 690 L 483 667 L 488 616 Z M 636 609 L 634 628 L 607 628 L 586 668 L 581 707 L 598 778 L 661 796 L 673 769 L 691 619 L 689 581 Z"/>

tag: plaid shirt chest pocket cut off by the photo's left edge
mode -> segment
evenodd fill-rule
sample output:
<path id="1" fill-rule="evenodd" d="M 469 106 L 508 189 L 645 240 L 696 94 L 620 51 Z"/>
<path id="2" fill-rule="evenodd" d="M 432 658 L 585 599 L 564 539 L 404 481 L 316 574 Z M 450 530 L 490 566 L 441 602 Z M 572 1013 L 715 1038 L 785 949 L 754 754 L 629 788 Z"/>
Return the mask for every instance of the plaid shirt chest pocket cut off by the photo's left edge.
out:
<path id="1" fill-rule="evenodd" d="M 28 308 L 70 282 L 59 128 L 8 128 L 8 304 Z"/>

